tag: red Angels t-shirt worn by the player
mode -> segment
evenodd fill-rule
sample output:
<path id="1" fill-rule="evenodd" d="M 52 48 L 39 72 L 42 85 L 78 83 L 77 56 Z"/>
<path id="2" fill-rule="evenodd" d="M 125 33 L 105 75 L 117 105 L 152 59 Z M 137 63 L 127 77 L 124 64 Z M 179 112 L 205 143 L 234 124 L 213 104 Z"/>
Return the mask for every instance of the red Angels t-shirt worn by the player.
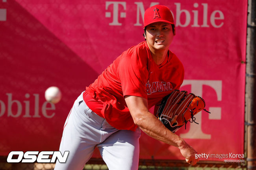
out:
<path id="1" fill-rule="evenodd" d="M 184 79 L 184 67 L 169 51 L 165 61 L 157 65 L 147 42 L 124 51 L 106 68 L 83 94 L 93 112 L 120 130 L 135 130 L 125 95 L 143 97 L 151 108 L 163 97 L 179 89 Z"/>

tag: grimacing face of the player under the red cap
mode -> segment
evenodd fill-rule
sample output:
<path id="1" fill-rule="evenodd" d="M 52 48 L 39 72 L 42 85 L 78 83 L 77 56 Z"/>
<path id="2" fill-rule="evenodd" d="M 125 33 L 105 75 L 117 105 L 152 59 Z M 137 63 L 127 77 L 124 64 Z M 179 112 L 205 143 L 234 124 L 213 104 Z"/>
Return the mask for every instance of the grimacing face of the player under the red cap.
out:
<path id="1" fill-rule="evenodd" d="M 169 23 L 155 22 L 146 27 L 145 38 L 150 49 L 168 49 L 173 42 L 173 28 Z"/>

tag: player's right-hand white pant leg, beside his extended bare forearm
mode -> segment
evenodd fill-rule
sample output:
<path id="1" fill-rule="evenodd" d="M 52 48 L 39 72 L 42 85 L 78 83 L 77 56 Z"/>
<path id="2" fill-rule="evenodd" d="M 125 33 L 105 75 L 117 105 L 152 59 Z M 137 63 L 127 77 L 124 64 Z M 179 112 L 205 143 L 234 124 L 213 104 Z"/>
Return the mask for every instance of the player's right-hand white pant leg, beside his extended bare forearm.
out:
<path id="1" fill-rule="evenodd" d="M 100 154 L 109 170 L 137 170 L 141 130 L 119 130 L 98 144 Z"/>

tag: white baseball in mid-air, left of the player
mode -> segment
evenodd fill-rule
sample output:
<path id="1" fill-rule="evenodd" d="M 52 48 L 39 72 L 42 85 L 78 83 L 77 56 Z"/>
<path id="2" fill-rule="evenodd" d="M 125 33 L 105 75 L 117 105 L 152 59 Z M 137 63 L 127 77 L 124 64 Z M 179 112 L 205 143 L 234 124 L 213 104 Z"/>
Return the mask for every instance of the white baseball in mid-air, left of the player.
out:
<path id="1" fill-rule="evenodd" d="M 45 100 L 51 103 L 58 103 L 61 99 L 61 91 L 56 86 L 51 86 L 45 91 Z"/>

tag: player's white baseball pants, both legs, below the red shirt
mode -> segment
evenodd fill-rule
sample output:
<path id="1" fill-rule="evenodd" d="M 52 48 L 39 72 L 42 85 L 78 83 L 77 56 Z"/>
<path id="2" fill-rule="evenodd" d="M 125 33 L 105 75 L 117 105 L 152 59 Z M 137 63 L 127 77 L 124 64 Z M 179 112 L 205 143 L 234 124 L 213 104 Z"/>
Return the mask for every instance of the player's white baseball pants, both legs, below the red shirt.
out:
<path id="1" fill-rule="evenodd" d="M 95 147 L 109 170 L 137 170 L 140 129 L 133 132 L 113 128 L 92 112 L 82 94 L 74 102 L 63 129 L 59 150 L 62 154 L 69 151 L 67 161 L 57 160 L 54 170 L 82 170 Z"/>

